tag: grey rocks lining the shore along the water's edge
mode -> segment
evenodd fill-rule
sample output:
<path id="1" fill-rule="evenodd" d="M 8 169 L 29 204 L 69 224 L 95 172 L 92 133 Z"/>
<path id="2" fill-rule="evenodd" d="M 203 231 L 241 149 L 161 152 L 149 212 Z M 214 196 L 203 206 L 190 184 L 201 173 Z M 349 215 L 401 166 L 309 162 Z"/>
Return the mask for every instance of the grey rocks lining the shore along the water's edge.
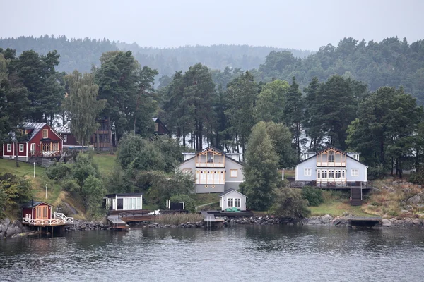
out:
<path id="1" fill-rule="evenodd" d="M 298 226 L 348 226 L 348 216 L 330 216 L 326 214 L 324 216 L 312 216 L 305 219 L 289 220 L 282 219 L 276 216 L 250 216 L 250 217 L 224 217 L 224 227 L 233 227 L 243 224 L 252 225 L 298 225 Z M 205 223 L 203 221 L 180 223 L 178 225 L 160 224 L 155 222 L 136 222 L 131 223 L 131 227 L 142 227 L 142 228 L 203 228 Z M 382 219 L 382 223 L 375 226 L 377 228 L 424 228 L 423 219 Z M 66 232 L 74 231 L 93 231 L 93 230 L 111 230 L 105 221 L 93 222 L 93 221 L 79 221 L 76 220 L 73 226 L 65 226 Z M 10 221 L 9 219 L 3 219 L 0 221 L 0 238 L 13 238 L 25 235 L 35 235 L 37 232 L 31 231 L 28 226 L 23 226 L 18 220 Z"/>

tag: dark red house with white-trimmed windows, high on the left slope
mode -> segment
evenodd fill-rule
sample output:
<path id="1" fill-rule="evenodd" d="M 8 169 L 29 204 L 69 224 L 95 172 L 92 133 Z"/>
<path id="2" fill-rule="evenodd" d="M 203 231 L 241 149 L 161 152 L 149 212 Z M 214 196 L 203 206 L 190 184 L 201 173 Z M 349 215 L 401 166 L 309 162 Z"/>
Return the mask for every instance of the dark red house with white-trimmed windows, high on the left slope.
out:
<path id="1" fill-rule="evenodd" d="M 59 157 L 63 148 L 63 137 L 47 123 L 23 123 L 19 130 L 23 141 L 18 142 L 18 159 L 27 161 L 30 157 Z M 3 144 L 3 158 L 16 157 L 15 143 Z"/>

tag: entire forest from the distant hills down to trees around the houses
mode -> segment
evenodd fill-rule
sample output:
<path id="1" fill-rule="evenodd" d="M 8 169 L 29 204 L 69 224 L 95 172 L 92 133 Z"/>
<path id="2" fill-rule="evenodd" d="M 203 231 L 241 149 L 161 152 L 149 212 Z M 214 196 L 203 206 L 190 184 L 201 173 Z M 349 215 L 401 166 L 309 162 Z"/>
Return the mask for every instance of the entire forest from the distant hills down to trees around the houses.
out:
<path id="1" fill-rule="evenodd" d="M 59 72 L 59 51 L 40 54 L 23 44 L 35 40 L 40 45 L 44 39 L 62 42 L 68 50 L 79 44 L 74 62 L 84 58 L 83 50 L 91 52 L 87 58 L 101 51 L 99 63 L 85 73 Z M 4 42 L 21 42 L 28 49 L 0 48 L 1 142 L 23 137 L 17 128 L 24 121 L 70 121 L 73 135 L 87 144 L 96 121 L 110 120 L 116 147 L 110 153 L 117 151 L 118 162 L 107 179 L 84 154 L 47 173 L 65 190 L 78 193 L 93 215 L 98 197 L 107 191 L 147 192 L 158 206 L 166 198 L 186 195 L 192 179 L 177 172 L 181 152 L 206 145 L 244 155 L 248 197 L 267 195 L 251 203 L 259 210 L 273 204 L 277 168 L 293 168 L 302 151 L 334 146 L 360 152 L 370 177 L 387 172 L 402 177 L 406 169 L 419 174 L 423 166 L 423 41 L 347 38 L 338 47 L 327 45 L 303 58 L 270 51 L 250 70 L 222 62 L 221 69 L 194 63 L 187 69 L 176 64 L 179 69 L 167 74 L 160 73 L 164 66 L 158 70 L 139 61 L 133 51 L 103 49 L 117 46 L 107 40 L 20 37 L 2 39 L 0 47 Z M 182 50 L 189 54 L 193 48 Z M 153 116 L 172 137 L 153 136 Z"/>

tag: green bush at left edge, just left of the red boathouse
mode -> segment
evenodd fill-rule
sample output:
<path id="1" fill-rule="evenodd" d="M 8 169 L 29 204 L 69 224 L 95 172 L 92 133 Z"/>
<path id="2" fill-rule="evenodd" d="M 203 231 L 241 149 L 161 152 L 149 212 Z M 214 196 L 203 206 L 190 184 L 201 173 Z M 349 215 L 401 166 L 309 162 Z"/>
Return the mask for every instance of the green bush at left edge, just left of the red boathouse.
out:
<path id="1" fill-rule="evenodd" d="M 5 213 L 16 211 L 19 204 L 28 202 L 32 196 L 30 180 L 24 176 L 0 173 L 0 219 Z"/>

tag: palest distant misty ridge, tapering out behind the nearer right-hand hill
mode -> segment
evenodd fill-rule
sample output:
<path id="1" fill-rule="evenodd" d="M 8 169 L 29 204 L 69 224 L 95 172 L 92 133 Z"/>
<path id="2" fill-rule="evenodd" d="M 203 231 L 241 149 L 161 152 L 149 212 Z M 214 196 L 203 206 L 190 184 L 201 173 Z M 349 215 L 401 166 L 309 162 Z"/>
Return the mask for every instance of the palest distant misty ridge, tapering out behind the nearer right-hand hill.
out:
<path id="1" fill-rule="evenodd" d="M 66 36 L 0 38 L 1 48 L 22 51 L 33 49 L 47 54 L 57 50 L 60 55 L 58 71 L 78 70 L 89 72 L 92 65 L 100 65 L 102 53 L 114 50 L 132 51 L 143 66 L 159 71 L 159 75 L 173 75 L 175 71 L 187 71 L 195 63 L 203 63 L 208 68 L 223 70 L 225 67 L 251 69 L 258 68 L 271 51 L 290 51 L 293 56 L 305 58 L 312 51 L 283 49 L 275 47 L 252 47 L 247 45 L 185 46 L 178 48 L 140 47 L 138 44 L 114 42 L 109 39 L 68 39 Z"/>

